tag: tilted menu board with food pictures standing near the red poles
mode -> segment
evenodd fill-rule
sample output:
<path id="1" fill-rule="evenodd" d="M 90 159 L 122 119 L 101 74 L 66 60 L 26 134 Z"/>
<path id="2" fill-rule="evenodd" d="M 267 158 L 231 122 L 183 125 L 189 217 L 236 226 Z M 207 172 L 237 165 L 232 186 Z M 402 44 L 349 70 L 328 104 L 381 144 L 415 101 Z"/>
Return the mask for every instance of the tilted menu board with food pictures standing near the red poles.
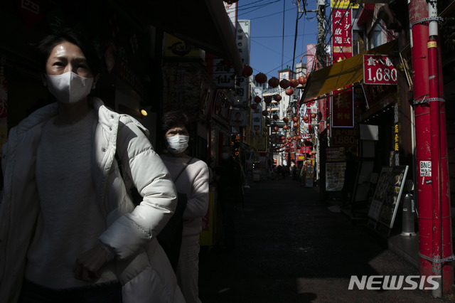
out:
<path id="1" fill-rule="evenodd" d="M 392 228 L 408 166 L 382 167 L 368 216 Z"/>

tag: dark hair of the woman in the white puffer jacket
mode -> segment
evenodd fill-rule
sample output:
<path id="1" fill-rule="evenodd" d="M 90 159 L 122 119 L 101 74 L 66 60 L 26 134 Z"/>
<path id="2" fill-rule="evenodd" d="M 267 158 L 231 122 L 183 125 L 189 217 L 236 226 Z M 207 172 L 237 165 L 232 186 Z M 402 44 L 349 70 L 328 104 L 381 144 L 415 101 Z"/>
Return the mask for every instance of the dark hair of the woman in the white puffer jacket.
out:
<path id="1" fill-rule="evenodd" d="M 82 33 L 74 31 L 70 28 L 65 28 L 57 33 L 50 34 L 38 43 L 38 46 L 36 47 L 38 63 L 43 71 L 45 71 L 45 64 L 47 63 L 53 48 L 55 48 L 55 46 L 59 43 L 65 41 L 73 43 L 82 50 L 82 53 L 84 53 L 85 58 L 87 59 L 87 64 L 90 70 L 92 70 L 94 76 L 100 73 L 100 60 L 93 44 L 90 43 L 87 38 L 82 35 Z"/>

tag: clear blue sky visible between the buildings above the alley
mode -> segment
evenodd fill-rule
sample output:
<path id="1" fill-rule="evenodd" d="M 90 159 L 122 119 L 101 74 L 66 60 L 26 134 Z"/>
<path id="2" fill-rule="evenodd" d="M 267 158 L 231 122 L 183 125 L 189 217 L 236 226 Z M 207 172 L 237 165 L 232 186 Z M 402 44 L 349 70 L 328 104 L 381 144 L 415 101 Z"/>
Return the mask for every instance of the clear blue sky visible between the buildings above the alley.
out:
<path id="1" fill-rule="evenodd" d="M 303 1 L 301 2 L 303 5 Z M 253 68 L 253 75 L 261 72 L 266 74 L 267 78 L 278 78 L 278 70 L 291 67 L 297 18 L 295 3 L 295 0 L 237 2 L 237 18 L 251 20 L 250 65 Z M 316 9 L 316 0 L 309 1 L 306 9 Z M 309 12 L 299 19 L 294 63 L 298 63 L 301 56 L 306 53 L 306 44 L 316 43 L 316 26 L 316 13 Z M 306 57 L 303 58 L 303 63 L 306 63 Z"/>

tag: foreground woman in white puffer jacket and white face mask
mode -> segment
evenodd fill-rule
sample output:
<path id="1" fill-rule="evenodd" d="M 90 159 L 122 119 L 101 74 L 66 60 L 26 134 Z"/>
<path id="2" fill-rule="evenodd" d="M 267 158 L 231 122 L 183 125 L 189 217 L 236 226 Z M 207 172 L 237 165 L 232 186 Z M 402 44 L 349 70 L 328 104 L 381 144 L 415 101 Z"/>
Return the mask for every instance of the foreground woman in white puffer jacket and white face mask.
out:
<path id="1" fill-rule="evenodd" d="M 72 31 L 41 42 L 57 102 L 3 146 L 0 302 L 184 302 L 156 240 L 175 187 L 146 129 L 87 97 L 99 77 L 87 46 Z"/>

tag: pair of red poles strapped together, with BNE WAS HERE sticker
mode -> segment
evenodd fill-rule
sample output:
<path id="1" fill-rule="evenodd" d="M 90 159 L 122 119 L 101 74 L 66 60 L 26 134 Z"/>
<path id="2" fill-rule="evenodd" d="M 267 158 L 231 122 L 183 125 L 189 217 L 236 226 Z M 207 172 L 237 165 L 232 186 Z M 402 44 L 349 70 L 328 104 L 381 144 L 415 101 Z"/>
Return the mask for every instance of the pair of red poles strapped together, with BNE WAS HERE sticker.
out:
<path id="1" fill-rule="evenodd" d="M 451 293 L 454 267 L 451 245 L 449 162 L 446 115 L 438 38 L 437 1 L 410 0 L 411 51 L 422 276 L 439 276 L 433 297 Z M 422 168 L 429 168 L 424 171 Z"/>

